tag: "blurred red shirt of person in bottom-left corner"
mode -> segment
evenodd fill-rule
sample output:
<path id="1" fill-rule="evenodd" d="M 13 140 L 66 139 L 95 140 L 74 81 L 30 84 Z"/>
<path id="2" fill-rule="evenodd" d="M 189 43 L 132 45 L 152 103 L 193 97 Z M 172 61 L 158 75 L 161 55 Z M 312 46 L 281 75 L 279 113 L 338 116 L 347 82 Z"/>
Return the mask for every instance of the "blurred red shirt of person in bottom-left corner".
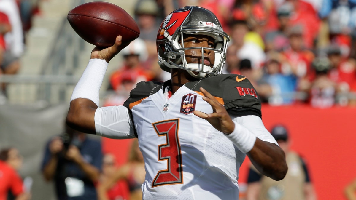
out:
<path id="1" fill-rule="evenodd" d="M 22 179 L 8 164 L 0 160 L 0 200 L 7 199 L 9 190 L 15 196 L 23 193 Z"/>

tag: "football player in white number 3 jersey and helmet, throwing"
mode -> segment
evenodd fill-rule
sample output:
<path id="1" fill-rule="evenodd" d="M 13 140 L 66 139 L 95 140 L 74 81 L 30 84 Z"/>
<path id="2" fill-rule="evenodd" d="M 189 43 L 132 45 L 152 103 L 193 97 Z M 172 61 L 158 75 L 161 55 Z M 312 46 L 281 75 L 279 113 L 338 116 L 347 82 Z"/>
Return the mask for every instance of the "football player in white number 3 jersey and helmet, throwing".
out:
<path id="1" fill-rule="evenodd" d="M 229 38 L 211 11 L 186 6 L 162 22 L 158 59 L 171 80 L 140 82 L 123 106 L 99 108 L 108 62 L 124 37 L 117 36 L 114 46 L 93 49 L 66 121 L 90 134 L 137 137 L 145 161 L 145 199 L 236 198 L 246 155 L 263 174 L 284 178 L 284 152 L 263 125 L 255 89 L 242 75 L 220 75 Z"/>

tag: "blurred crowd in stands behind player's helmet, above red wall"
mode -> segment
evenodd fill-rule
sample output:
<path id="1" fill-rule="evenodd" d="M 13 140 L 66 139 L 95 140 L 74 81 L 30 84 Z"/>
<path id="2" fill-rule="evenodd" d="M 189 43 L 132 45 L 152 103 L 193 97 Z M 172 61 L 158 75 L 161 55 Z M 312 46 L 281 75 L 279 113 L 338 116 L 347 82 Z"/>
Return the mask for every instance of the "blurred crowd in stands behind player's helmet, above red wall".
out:
<path id="1" fill-rule="evenodd" d="M 120 95 L 107 96 L 106 105 L 122 104 L 138 81 L 170 79 L 157 64 L 157 30 L 184 5 L 218 16 L 231 40 L 224 73 L 246 76 L 263 103 L 356 105 L 355 0 L 138 0 L 141 34 L 121 53 L 124 64 L 109 84 Z"/>

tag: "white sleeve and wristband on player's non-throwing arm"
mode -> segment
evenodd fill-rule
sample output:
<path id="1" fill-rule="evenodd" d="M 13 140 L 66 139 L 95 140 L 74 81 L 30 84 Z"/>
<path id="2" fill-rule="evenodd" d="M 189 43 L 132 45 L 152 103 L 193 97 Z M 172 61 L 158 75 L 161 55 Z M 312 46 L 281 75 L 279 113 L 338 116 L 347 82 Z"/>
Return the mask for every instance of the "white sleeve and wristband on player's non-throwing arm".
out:
<path id="1" fill-rule="evenodd" d="M 260 117 L 247 115 L 242 117 L 232 117 L 235 123 L 234 131 L 226 135 L 243 153 L 251 151 L 255 145 L 256 138 L 277 144 L 271 133 L 267 131 Z M 278 144 L 277 144 L 278 145 Z"/>

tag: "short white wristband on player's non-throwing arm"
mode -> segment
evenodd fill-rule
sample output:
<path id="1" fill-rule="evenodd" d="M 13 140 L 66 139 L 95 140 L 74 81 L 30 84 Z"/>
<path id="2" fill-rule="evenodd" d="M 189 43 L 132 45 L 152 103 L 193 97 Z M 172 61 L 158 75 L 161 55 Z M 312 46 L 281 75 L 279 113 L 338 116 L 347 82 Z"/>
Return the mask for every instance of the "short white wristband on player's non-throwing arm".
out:
<path id="1" fill-rule="evenodd" d="M 256 136 L 251 133 L 247 128 L 235 122 L 235 129 L 229 135 L 224 134 L 234 143 L 242 153 L 251 151 L 256 142 Z"/>

